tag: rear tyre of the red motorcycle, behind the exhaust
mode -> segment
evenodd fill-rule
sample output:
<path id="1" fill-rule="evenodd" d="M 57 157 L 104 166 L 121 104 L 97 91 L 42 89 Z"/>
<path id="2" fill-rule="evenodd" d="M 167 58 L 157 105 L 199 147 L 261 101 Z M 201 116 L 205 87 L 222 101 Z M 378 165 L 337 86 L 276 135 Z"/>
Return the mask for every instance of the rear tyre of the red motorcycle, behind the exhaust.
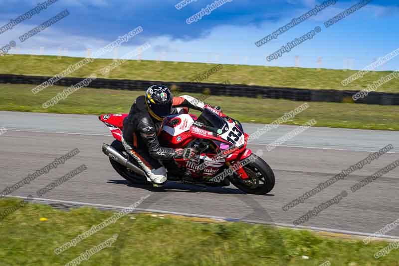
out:
<path id="1" fill-rule="evenodd" d="M 126 152 L 125 147 L 123 146 L 122 142 L 119 140 L 114 140 L 111 145 L 112 148 L 117 150 L 120 154 L 122 154 L 125 158 L 129 159 L 129 154 Z M 129 170 L 128 168 L 124 167 L 123 165 L 119 164 L 118 162 L 112 160 L 109 158 L 109 161 L 112 165 L 112 167 L 115 169 L 115 171 L 124 179 L 131 183 L 135 184 L 150 184 L 150 182 L 147 181 L 146 178 L 137 175 L 135 172 Z M 138 164 L 136 164 L 134 161 L 131 160 L 136 166 L 140 168 Z"/>

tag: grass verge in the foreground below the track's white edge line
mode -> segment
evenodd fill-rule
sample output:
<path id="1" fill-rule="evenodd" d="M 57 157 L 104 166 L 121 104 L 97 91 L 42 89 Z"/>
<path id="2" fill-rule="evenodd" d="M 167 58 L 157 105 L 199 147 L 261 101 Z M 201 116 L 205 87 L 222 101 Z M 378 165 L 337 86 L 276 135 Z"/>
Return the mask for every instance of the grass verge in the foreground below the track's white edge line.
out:
<path id="1" fill-rule="evenodd" d="M 0 200 L 0 211 L 18 202 Z M 394 266 L 399 260 L 397 251 L 374 258 L 387 242 L 365 245 L 360 240 L 322 238 L 310 231 L 244 223 L 198 223 L 145 214 L 124 216 L 55 255 L 54 249 L 112 214 L 94 208 L 66 212 L 48 205 L 25 204 L 0 221 L 1 265 L 65 265 L 114 234 L 118 238 L 111 247 L 92 255 L 82 265 L 319 266 L 329 261 L 333 266 Z"/>

